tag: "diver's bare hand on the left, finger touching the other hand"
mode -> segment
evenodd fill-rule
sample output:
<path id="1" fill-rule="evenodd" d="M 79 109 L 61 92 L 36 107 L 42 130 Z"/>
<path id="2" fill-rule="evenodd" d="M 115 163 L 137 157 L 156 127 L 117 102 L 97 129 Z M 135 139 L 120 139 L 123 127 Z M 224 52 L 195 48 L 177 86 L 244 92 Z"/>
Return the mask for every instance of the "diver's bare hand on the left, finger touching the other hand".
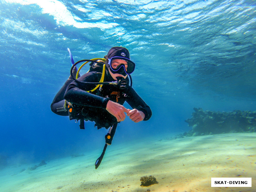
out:
<path id="1" fill-rule="evenodd" d="M 106 110 L 113 116 L 116 117 L 116 120 L 118 122 L 124 121 L 125 119 L 125 113 L 128 113 L 129 110 L 125 108 L 123 105 L 120 105 L 119 103 L 115 103 L 111 100 L 108 101 Z"/>

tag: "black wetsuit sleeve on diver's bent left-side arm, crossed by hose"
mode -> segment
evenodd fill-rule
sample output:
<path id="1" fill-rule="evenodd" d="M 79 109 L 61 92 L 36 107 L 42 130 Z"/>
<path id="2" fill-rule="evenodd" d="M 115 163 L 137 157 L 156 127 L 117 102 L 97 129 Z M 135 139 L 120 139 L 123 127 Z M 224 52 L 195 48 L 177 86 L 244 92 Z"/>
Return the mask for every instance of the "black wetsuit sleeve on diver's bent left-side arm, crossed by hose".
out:
<path id="1" fill-rule="evenodd" d="M 99 82 L 95 72 L 89 72 L 79 77 L 84 82 Z M 80 84 L 73 81 L 67 87 L 64 94 L 65 100 L 77 105 L 106 109 L 108 98 L 100 97 L 84 90 L 92 90 L 97 84 Z"/>

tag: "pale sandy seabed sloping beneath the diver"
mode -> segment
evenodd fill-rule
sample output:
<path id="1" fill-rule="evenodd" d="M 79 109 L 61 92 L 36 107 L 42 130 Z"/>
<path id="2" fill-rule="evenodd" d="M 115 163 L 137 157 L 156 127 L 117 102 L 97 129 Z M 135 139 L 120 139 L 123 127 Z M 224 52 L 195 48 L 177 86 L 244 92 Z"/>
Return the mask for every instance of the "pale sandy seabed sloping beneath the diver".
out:
<path id="1" fill-rule="evenodd" d="M 5 168 L 0 171 L 0 191 L 256 192 L 256 133 L 154 138 L 129 145 L 113 140 L 95 170 L 102 149 L 46 161 L 33 171 L 28 167 L 35 164 Z M 141 187 L 140 177 L 146 175 L 159 183 Z M 251 177 L 252 187 L 211 187 L 212 177 Z"/>

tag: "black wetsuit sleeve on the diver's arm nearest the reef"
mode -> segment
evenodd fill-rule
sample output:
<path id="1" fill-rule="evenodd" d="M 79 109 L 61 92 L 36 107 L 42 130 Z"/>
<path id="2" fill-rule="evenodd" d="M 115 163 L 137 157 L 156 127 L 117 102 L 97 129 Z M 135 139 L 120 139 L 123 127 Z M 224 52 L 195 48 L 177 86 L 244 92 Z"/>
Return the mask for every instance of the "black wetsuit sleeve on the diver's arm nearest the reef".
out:
<path id="1" fill-rule="evenodd" d="M 152 111 L 150 107 L 143 101 L 140 96 L 134 91 L 132 87 L 128 88 L 128 97 L 126 102 L 135 109 L 142 111 L 145 114 L 143 121 L 147 121 L 152 116 Z"/>

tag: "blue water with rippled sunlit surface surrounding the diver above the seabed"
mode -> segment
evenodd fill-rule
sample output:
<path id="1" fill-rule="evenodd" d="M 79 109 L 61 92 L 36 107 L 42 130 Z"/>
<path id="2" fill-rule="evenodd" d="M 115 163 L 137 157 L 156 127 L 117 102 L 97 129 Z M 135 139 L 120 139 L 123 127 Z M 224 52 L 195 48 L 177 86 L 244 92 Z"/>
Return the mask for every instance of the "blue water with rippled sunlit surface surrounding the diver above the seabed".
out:
<path id="1" fill-rule="evenodd" d="M 188 131 L 194 107 L 256 110 L 255 4 L 1 0 L 0 155 L 21 164 L 103 148 L 105 129 L 79 130 L 50 109 L 69 76 L 67 47 L 78 61 L 123 46 L 136 63 L 133 88 L 153 116 L 126 118 L 113 144 Z"/>

